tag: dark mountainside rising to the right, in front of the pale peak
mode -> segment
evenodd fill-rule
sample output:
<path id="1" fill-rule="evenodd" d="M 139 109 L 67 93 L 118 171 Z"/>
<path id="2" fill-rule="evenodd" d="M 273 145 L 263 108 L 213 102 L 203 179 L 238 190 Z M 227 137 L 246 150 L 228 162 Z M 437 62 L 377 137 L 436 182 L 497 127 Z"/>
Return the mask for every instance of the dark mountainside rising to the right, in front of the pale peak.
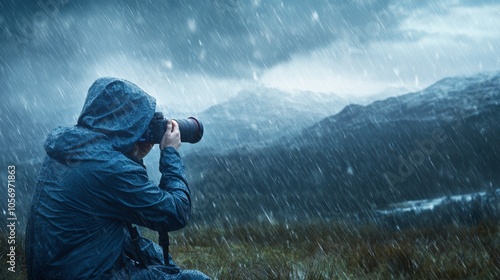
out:
<path id="1" fill-rule="evenodd" d="M 195 216 L 333 217 L 500 185 L 500 73 L 348 105 L 263 148 L 186 157 Z M 198 206 L 197 206 L 198 205 Z"/>

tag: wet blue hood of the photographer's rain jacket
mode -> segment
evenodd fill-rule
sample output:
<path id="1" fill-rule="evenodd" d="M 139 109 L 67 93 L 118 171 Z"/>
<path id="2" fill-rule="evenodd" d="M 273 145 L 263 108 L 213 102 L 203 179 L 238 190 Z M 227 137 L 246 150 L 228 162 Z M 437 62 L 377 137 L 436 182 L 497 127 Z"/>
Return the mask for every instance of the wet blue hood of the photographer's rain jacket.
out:
<path id="1" fill-rule="evenodd" d="M 100 78 L 89 88 L 77 125 L 53 130 L 45 150 L 56 159 L 67 159 L 75 149 L 99 143 L 126 153 L 146 131 L 155 108 L 156 100 L 135 84 Z"/>

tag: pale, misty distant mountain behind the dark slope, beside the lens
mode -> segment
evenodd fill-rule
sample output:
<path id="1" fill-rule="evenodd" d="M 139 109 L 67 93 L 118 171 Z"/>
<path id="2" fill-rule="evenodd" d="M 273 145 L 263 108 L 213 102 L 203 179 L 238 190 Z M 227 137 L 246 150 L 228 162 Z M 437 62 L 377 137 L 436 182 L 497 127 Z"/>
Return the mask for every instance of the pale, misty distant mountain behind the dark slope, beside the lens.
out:
<path id="1" fill-rule="evenodd" d="M 351 102 L 353 99 L 308 91 L 263 87 L 243 90 L 199 114 L 204 125 L 203 140 L 188 149 L 206 152 L 267 146 L 276 138 L 296 134 L 339 112 Z"/>

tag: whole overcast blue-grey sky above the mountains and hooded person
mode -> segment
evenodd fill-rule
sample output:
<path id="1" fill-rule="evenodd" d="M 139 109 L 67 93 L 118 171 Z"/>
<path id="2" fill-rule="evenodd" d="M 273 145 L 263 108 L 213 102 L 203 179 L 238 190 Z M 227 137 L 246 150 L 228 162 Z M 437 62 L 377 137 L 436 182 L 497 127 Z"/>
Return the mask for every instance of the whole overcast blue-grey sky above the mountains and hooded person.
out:
<path id="1" fill-rule="evenodd" d="M 101 76 L 199 112 L 255 86 L 367 95 L 500 70 L 494 0 L 4 0 L 0 28 L 2 95 L 38 110 L 81 108 Z"/>

